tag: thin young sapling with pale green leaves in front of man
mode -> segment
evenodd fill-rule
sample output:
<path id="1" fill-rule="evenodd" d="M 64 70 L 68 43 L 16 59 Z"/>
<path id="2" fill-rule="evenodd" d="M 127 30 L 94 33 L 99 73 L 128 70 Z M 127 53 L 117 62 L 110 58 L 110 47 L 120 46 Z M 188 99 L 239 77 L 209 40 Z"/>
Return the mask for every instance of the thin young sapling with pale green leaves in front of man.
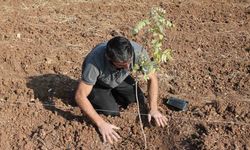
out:
<path id="1" fill-rule="evenodd" d="M 160 70 L 162 63 L 172 59 L 171 49 L 163 47 L 166 37 L 165 29 L 174 27 L 171 21 L 165 19 L 165 13 L 166 11 L 160 7 L 152 8 L 149 17 L 139 21 L 132 30 L 133 36 L 140 36 L 143 41 L 141 51 L 146 47 L 151 50 L 148 51 L 150 59 L 140 55 L 138 62 L 133 67 L 133 73 L 136 76 L 136 101 L 145 149 L 147 149 L 147 138 L 143 130 L 137 94 L 138 72 L 142 72 L 144 80 L 148 80 L 149 73 Z"/>

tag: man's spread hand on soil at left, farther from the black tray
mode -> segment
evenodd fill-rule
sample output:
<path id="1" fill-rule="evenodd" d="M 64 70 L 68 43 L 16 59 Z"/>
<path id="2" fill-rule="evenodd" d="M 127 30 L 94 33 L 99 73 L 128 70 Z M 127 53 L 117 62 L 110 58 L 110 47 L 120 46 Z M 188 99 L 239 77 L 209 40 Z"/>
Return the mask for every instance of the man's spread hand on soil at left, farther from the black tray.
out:
<path id="1" fill-rule="evenodd" d="M 103 122 L 102 124 L 98 126 L 98 129 L 103 137 L 104 143 L 106 143 L 108 140 L 110 144 L 113 144 L 113 142 L 117 142 L 118 139 L 121 138 L 119 134 L 116 133 L 116 131 L 114 130 L 114 129 L 120 129 L 120 128 L 110 123 Z"/>

